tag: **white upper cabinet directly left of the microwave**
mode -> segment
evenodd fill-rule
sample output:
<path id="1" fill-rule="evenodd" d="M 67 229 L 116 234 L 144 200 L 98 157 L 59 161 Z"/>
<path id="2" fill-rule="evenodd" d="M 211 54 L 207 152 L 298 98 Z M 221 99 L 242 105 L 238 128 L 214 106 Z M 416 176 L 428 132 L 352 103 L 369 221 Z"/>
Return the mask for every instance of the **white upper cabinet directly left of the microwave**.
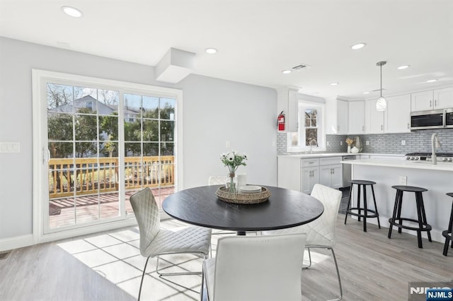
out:
<path id="1" fill-rule="evenodd" d="M 386 98 L 385 133 L 408 133 L 411 120 L 411 94 Z"/>

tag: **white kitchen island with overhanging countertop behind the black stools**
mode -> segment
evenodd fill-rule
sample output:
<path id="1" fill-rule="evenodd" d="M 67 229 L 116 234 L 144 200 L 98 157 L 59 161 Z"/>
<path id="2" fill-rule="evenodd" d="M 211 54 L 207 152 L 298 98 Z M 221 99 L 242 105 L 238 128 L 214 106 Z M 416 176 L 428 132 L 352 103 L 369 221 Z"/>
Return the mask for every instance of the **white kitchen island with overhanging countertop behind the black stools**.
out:
<path id="1" fill-rule="evenodd" d="M 392 186 L 409 185 L 428 189 L 423 193 L 423 200 L 426 218 L 432 226 L 432 240 L 445 241 L 442 230 L 447 229 L 452 206 L 452 199 L 446 194 L 453 192 L 453 163 L 438 162 L 437 165 L 432 165 L 427 161 L 408 161 L 404 158 L 372 158 L 341 163 L 352 165 L 352 179 L 366 179 L 377 183 L 374 185 L 374 192 L 381 225 L 384 227 L 389 227 L 389 218 L 394 208 L 396 190 L 391 188 Z M 371 194 L 370 191 L 369 193 Z M 367 199 L 370 197 L 367 195 Z M 354 191 L 352 204 L 355 204 L 356 199 Z M 414 194 L 404 194 L 401 216 L 417 218 Z M 377 220 L 370 219 L 367 222 L 377 224 Z M 416 232 L 411 230 L 403 229 L 403 232 L 416 235 Z M 397 235 L 392 237 L 396 238 Z M 423 237 L 427 237 L 425 232 Z"/>

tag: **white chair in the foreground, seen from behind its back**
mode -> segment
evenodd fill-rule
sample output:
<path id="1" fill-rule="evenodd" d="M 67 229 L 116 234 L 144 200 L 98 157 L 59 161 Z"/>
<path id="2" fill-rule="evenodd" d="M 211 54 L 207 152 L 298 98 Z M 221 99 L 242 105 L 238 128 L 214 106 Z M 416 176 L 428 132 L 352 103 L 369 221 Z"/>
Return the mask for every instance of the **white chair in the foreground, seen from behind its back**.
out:
<path id="1" fill-rule="evenodd" d="M 208 300 L 302 300 L 305 239 L 303 233 L 219 238 L 216 257 L 203 261 Z"/>

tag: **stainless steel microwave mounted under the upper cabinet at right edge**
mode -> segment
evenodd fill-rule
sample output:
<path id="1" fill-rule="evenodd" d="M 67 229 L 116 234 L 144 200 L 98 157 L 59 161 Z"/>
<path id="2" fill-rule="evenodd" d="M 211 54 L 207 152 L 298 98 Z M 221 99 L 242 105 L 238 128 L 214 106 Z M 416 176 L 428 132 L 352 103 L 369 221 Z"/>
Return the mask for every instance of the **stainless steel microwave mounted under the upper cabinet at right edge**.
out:
<path id="1" fill-rule="evenodd" d="M 453 128 L 453 108 L 411 112 L 411 131 Z"/>

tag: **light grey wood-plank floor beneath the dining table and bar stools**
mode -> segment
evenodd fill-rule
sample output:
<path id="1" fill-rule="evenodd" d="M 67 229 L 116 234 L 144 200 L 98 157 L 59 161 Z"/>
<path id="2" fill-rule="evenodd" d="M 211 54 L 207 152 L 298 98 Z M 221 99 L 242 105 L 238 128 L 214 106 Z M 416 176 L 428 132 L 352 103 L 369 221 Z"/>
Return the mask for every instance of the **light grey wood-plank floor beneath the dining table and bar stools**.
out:
<path id="1" fill-rule="evenodd" d="M 453 249 L 442 255 L 443 244 L 362 223 L 338 215 L 335 252 L 343 283 L 343 300 L 408 300 L 408 283 L 453 281 Z M 183 223 L 167 220 L 165 228 Z M 219 235 L 213 235 L 213 243 Z M 135 227 L 96 233 L 71 240 L 13 250 L 0 260 L 0 300 L 134 300 L 144 259 L 139 254 Z M 302 272 L 303 300 L 336 297 L 338 282 L 330 252 L 312 252 L 314 264 Z M 164 258 L 169 269 L 198 269 L 201 259 L 184 256 Z M 278 259 L 275 259 L 278 260 Z M 142 300 L 198 300 L 200 276 L 156 277 L 155 259 L 147 270 Z M 183 263 L 180 267 L 173 263 Z M 276 288 L 278 289 L 278 288 Z"/>

